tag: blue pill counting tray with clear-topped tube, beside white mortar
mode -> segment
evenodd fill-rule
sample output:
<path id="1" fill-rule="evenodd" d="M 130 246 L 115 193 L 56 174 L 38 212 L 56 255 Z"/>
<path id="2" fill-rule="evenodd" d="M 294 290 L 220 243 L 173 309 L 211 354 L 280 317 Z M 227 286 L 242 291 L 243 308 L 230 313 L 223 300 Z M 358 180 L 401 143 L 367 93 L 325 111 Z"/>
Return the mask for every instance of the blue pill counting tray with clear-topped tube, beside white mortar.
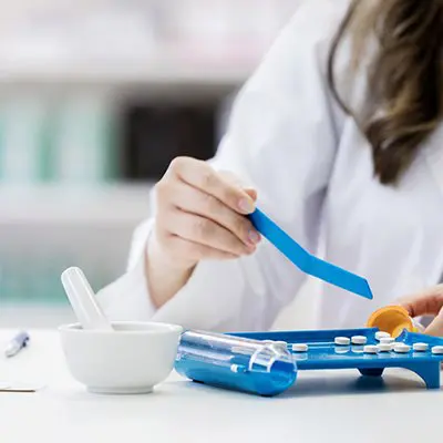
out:
<path id="1" fill-rule="evenodd" d="M 218 388 L 259 395 L 277 395 L 292 387 L 300 371 L 357 369 L 365 377 L 381 377 L 385 368 L 404 368 L 419 374 L 427 389 L 440 388 L 443 354 L 432 347 L 443 339 L 403 331 L 396 342 L 411 346 L 408 353 L 394 351 L 369 354 L 363 346 L 337 346 L 336 337 L 364 336 L 377 344 L 378 329 L 282 331 L 216 334 L 183 333 L 175 368 L 182 375 Z M 427 343 L 426 352 L 412 351 L 413 343 Z M 307 352 L 292 351 L 292 344 L 308 346 Z"/>

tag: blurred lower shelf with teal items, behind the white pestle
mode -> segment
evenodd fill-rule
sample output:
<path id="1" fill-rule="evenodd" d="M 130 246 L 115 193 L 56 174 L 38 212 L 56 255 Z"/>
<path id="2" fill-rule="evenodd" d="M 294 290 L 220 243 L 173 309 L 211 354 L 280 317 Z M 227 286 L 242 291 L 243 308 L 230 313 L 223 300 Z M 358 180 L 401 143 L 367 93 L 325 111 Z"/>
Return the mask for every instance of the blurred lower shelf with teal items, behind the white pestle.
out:
<path id="1" fill-rule="evenodd" d="M 71 316 L 61 272 L 79 266 L 95 290 L 126 268 L 151 186 L 0 187 L 0 326 Z"/>

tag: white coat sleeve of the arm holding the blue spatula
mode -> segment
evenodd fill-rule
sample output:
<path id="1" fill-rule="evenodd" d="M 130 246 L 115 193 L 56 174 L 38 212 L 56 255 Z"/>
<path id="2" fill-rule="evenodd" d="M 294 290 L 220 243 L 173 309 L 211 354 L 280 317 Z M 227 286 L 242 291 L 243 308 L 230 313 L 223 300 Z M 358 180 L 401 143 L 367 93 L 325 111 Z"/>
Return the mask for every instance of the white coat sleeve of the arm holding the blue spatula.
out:
<path id="1" fill-rule="evenodd" d="M 238 94 L 227 134 L 210 161 L 255 186 L 260 208 L 311 251 L 340 131 L 326 82 L 327 53 L 347 4 L 309 0 L 299 7 Z M 128 272 L 100 296 L 111 317 L 266 330 L 306 279 L 264 240 L 253 256 L 202 261 L 185 287 L 155 310 L 143 274 L 152 223 L 135 234 Z"/>

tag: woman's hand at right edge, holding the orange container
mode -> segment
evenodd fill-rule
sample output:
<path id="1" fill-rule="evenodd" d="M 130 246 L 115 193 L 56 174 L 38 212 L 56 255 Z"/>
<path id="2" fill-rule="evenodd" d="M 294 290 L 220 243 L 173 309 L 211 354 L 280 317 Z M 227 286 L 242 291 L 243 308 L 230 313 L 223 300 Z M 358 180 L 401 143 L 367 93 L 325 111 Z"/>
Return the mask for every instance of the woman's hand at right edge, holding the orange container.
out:
<path id="1" fill-rule="evenodd" d="M 414 317 L 433 316 L 435 319 L 426 328 L 430 336 L 443 336 L 443 285 L 433 286 L 423 292 L 406 297 L 399 301 L 409 315 Z"/>

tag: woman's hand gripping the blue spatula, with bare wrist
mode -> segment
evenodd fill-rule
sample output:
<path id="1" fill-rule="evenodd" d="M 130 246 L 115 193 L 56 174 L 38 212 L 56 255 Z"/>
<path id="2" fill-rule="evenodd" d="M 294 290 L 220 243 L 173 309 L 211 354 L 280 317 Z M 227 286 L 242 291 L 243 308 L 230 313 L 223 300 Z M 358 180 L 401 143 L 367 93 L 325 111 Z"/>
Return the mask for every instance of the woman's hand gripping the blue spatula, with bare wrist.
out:
<path id="1" fill-rule="evenodd" d="M 257 194 L 206 162 L 178 157 L 156 186 L 155 231 L 146 274 L 157 307 L 179 290 L 203 259 L 234 259 L 255 251 L 260 235 L 245 215 Z"/>

